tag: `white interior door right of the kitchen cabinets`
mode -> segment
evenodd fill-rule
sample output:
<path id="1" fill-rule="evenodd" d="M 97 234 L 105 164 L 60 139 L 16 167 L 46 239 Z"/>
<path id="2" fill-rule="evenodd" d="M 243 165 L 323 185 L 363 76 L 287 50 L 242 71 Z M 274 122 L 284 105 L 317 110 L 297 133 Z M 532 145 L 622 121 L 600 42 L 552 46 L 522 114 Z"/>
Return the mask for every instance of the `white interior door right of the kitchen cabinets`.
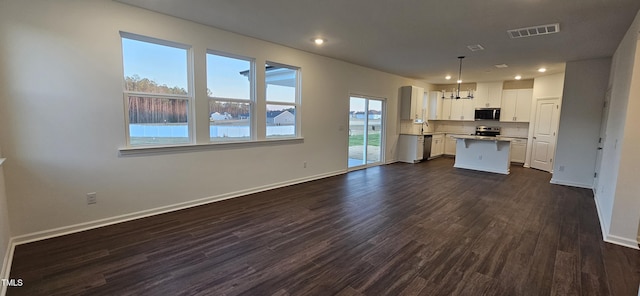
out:
<path id="1" fill-rule="evenodd" d="M 536 103 L 531 167 L 547 172 L 553 170 L 556 134 L 560 117 L 559 99 L 541 99 Z"/>

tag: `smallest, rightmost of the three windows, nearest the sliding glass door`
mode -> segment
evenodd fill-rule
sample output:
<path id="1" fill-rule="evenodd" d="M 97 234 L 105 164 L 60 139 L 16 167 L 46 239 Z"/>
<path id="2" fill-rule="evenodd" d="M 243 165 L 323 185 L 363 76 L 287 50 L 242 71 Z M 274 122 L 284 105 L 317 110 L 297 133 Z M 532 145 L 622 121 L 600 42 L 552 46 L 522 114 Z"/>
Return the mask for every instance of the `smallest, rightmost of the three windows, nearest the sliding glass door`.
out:
<path id="1" fill-rule="evenodd" d="M 266 63 L 267 138 L 298 135 L 299 69 Z"/>

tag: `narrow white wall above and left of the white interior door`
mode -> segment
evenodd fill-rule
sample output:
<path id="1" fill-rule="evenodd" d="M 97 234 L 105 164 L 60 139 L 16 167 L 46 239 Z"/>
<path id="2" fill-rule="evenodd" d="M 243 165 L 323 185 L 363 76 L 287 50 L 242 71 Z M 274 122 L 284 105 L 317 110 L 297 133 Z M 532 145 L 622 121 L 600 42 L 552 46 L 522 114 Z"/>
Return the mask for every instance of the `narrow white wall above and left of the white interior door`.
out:
<path id="1" fill-rule="evenodd" d="M 531 163 L 531 152 L 533 151 L 533 130 L 536 126 L 536 109 L 539 99 L 559 98 L 562 105 L 562 89 L 564 87 L 564 72 L 541 76 L 533 80 L 533 100 L 531 100 L 531 121 L 529 122 L 529 135 L 527 141 L 527 156 L 524 166 L 529 167 Z"/>

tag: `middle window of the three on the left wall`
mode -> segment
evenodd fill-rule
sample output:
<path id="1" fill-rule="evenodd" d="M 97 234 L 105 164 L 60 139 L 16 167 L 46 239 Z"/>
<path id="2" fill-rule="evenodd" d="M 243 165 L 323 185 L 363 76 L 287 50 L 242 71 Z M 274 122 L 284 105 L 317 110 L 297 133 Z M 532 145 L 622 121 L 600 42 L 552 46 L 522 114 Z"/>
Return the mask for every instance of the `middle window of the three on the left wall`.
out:
<path id="1" fill-rule="evenodd" d="M 207 53 L 209 135 L 212 142 L 251 140 L 254 62 Z"/>

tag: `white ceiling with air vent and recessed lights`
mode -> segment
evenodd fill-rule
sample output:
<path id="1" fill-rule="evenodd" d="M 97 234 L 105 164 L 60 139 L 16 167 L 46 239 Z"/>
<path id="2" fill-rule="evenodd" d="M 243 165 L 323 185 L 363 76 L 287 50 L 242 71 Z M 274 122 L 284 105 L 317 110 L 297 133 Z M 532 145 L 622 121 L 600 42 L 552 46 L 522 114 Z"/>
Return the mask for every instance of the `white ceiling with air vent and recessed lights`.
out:
<path id="1" fill-rule="evenodd" d="M 238 34 L 431 83 L 512 80 L 613 54 L 639 0 L 118 0 Z M 507 30 L 560 23 L 560 33 Z M 316 46 L 312 38 L 327 42 Z M 467 45 L 485 50 L 471 52 Z M 508 64 L 506 69 L 496 64 Z M 452 81 L 453 81 L 452 80 Z"/>

